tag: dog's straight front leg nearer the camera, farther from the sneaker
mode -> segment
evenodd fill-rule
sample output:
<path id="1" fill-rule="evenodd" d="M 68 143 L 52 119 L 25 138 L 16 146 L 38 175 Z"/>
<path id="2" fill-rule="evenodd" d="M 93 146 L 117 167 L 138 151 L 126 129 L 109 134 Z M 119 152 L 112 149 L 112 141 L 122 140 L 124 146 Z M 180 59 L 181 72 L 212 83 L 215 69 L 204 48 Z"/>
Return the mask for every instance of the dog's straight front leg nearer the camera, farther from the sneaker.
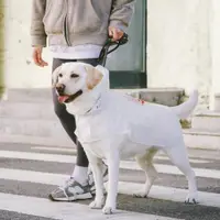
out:
<path id="1" fill-rule="evenodd" d="M 119 152 L 111 152 L 107 161 L 109 166 L 108 196 L 102 212 L 106 215 L 110 215 L 113 213 L 113 211 L 117 208 L 117 194 L 118 194 L 119 165 L 120 165 Z"/>

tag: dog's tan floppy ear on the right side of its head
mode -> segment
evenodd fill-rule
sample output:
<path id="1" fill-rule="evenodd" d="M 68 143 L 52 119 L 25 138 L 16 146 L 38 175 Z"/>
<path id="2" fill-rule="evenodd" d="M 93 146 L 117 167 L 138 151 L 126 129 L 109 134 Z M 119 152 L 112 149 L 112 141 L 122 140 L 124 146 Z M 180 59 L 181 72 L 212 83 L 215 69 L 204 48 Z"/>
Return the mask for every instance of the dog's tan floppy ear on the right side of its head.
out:
<path id="1" fill-rule="evenodd" d="M 86 65 L 85 69 L 87 72 L 87 79 L 86 79 L 87 88 L 91 90 L 99 84 L 99 81 L 101 81 L 103 75 L 101 74 L 101 72 L 99 72 L 91 65 Z"/>

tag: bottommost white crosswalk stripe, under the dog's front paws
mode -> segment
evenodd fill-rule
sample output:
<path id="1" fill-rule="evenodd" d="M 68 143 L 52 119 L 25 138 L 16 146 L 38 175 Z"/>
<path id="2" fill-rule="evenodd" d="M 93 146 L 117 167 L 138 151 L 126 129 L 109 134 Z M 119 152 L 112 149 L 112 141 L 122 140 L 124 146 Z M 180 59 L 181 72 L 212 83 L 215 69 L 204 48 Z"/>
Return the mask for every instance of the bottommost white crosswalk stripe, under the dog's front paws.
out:
<path id="1" fill-rule="evenodd" d="M 0 194 L 0 209 L 16 211 L 21 213 L 53 218 L 57 220 L 103 220 L 108 219 L 100 210 L 91 210 L 86 205 L 56 204 L 47 199 Z M 86 213 L 86 215 L 85 215 Z M 134 213 L 119 210 L 111 220 L 175 220 L 174 218 L 158 217 L 152 215 Z"/>

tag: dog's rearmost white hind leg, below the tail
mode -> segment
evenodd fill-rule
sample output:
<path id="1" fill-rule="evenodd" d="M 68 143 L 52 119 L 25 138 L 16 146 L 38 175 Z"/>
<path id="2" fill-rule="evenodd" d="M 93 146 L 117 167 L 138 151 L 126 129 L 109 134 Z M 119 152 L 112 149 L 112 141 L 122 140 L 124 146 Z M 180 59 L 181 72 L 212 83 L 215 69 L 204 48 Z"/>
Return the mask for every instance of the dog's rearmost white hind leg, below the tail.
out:
<path id="1" fill-rule="evenodd" d="M 197 193 L 197 183 L 195 173 L 189 164 L 186 146 L 183 143 L 179 143 L 179 147 L 170 147 L 165 153 L 168 155 L 174 165 L 176 165 L 179 170 L 186 176 L 188 180 L 189 194 L 186 197 L 185 202 L 187 204 L 197 204 L 198 202 L 198 193 Z"/>

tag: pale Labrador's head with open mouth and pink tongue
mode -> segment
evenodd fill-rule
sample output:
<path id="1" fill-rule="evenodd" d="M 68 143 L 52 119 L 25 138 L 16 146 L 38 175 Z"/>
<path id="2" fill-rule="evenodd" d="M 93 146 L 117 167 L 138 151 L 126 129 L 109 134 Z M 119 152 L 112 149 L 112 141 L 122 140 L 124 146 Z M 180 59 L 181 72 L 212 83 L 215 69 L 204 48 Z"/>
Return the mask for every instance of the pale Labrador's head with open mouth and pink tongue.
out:
<path id="1" fill-rule="evenodd" d="M 72 102 L 84 92 L 92 90 L 103 75 L 97 68 L 85 63 L 66 63 L 53 73 L 53 86 L 59 102 Z"/>

